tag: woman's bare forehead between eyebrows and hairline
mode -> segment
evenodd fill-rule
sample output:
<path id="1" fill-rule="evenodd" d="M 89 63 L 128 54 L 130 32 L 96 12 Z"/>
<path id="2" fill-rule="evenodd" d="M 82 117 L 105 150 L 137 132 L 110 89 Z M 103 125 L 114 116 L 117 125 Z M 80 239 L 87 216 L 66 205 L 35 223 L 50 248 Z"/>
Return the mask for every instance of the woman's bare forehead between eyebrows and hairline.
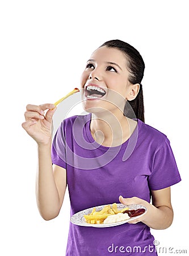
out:
<path id="1" fill-rule="evenodd" d="M 109 48 L 107 46 L 100 47 L 96 49 L 92 55 L 91 59 L 95 61 L 111 61 L 122 66 L 125 66 L 126 58 L 123 52 L 116 48 Z"/>

